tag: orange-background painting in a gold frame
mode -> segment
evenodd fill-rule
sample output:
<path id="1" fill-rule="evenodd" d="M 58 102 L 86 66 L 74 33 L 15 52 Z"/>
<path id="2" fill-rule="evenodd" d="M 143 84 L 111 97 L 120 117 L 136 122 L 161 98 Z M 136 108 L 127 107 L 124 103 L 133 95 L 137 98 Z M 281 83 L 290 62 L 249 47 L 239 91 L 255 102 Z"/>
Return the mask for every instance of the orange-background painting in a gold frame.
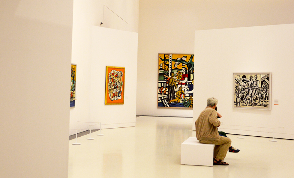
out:
<path id="1" fill-rule="evenodd" d="M 105 104 L 124 104 L 125 67 L 106 66 Z"/>

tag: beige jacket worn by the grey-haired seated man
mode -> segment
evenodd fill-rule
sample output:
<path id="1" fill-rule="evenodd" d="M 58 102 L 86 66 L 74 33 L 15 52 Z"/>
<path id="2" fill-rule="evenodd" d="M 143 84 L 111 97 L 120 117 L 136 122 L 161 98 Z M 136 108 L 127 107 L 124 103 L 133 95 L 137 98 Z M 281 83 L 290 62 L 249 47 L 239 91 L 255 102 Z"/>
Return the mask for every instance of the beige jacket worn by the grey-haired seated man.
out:
<path id="1" fill-rule="evenodd" d="M 195 121 L 197 139 L 199 141 L 220 141 L 217 126 L 220 126 L 220 121 L 217 119 L 217 113 L 213 108 L 207 106 Z"/>

